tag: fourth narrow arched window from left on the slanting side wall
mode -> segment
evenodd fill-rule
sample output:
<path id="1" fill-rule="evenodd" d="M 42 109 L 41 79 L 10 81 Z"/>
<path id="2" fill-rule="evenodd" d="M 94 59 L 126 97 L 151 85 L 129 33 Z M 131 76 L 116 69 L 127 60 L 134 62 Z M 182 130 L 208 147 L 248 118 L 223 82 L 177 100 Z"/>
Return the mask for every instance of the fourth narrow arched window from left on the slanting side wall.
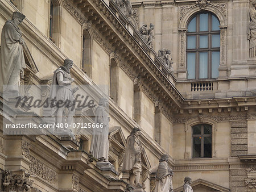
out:
<path id="1" fill-rule="evenodd" d="M 137 84 L 134 84 L 133 119 L 141 124 L 141 90 Z"/>

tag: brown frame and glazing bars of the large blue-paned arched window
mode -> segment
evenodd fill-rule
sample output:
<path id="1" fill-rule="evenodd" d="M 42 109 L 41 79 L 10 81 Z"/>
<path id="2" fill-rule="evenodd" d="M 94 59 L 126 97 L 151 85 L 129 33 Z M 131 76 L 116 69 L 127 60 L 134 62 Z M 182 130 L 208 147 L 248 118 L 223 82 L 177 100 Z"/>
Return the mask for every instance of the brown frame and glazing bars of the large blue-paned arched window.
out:
<path id="1" fill-rule="evenodd" d="M 208 14 L 208 31 L 200 31 L 200 14 Z M 220 35 L 220 30 L 218 31 L 212 31 L 212 16 L 215 16 L 216 19 L 218 17 L 213 14 L 210 11 L 200 11 L 196 14 L 192 15 L 191 18 L 188 20 L 187 28 L 189 24 L 191 23 L 192 19 L 196 18 L 196 31 L 195 32 L 189 32 L 187 31 L 187 37 L 186 37 L 186 66 L 187 66 L 187 72 L 188 72 L 188 53 L 196 53 L 196 61 L 195 61 L 195 78 L 188 78 L 187 74 L 187 80 L 207 80 L 207 79 L 216 79 L 218 77 L 212 78 L 212 53 L 213 52 L 219 52 L 220 53 L 220 47 L 213 48 L 212 47 L 212 35 Z M 220 23 L 220 20 L 218 19 L 218 22 Z M 208 36 L 208 48 L 200 48 L 200 36 L 207 35 Z M 196 48 L 188 49 L 188 37 L 189 36 L 196 36 Z M 220 39 L 219 39 L 220 41 Z M 200 78 L 200 58 L 199 54 L 202 52 L 208 52 L 208 72 L 207 72 L 207 78 Z M 219 58 L 220 60 L 220 58 Z"/>

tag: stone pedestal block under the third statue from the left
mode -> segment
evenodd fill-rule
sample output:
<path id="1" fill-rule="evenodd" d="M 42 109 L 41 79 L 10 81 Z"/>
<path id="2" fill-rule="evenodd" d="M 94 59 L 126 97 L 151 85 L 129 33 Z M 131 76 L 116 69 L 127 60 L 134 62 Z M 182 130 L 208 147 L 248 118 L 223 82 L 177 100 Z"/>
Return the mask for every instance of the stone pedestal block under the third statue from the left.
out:
<path id="1" fill-rule="evenodd" d="M 107 178 L 117 178 L 118 172 L 115 170 L 114 165 L 110 162 L 100 161 L 96 163 L 96 167 L 101 170 L 101 173 Z"/>

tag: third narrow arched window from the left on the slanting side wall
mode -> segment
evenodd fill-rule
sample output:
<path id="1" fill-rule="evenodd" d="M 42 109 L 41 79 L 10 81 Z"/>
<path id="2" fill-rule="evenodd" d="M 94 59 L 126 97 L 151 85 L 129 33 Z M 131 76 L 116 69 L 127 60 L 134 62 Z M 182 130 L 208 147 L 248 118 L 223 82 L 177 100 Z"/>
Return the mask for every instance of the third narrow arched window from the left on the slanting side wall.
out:
<path id="1" fill-rule="evenodd" d="M 118 75 L 117 75 L 117 63 L 114 59 L 110 60 L 110 82 L 109 82 L 109 97 L 117 102 L 118 94 Z"/>

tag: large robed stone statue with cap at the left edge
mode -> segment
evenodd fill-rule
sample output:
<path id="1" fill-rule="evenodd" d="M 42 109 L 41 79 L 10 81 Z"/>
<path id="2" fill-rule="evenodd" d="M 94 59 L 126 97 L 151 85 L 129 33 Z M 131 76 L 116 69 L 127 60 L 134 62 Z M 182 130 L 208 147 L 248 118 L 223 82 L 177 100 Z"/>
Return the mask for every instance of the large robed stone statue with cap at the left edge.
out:
<path id="1" fill-rule="evenodd" d="M 3 85 L 7 85 L 8 91 L 18 91 L 20 78 L 24 76 L 24 40 L 18 27 L 24 18 L 25 15 L 15 11 L 12 19 L 7 20 L 2 28 L 0 91 L 4 91 Z"/>

